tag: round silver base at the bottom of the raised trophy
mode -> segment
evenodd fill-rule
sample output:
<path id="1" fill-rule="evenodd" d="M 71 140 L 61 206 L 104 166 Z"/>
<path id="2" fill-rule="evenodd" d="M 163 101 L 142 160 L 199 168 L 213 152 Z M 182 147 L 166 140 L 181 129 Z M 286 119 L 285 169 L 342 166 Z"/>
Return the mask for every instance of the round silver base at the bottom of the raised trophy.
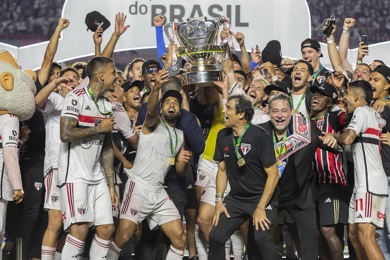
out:
<path id="1" fill-rule="evenodd" d="M 181 75 L 183 86 L 194 84 L 196 87 L 208 87 L 212 86 L 214 81 L 223 81 L 223 74 L 213 64 L 192 66 Z"/>

